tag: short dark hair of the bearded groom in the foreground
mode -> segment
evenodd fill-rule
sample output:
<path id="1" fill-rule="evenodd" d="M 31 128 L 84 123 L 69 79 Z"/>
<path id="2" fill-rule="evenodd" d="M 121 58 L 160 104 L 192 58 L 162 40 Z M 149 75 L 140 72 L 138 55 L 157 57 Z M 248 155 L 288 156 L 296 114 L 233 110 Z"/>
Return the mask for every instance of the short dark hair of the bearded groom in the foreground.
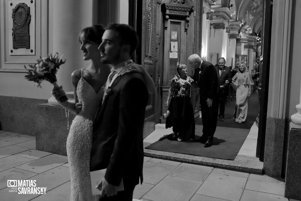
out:
<path id="1" fill-rule="evenodd" d="M 113 30 L 117 33 L 117 36 L 120 39 L 120 45 L 129 45 L 131 46 L 130 55 L 137 49 L 139 38 L 135 29 L 127 24 L 109 24 L 106 30 Z"/>

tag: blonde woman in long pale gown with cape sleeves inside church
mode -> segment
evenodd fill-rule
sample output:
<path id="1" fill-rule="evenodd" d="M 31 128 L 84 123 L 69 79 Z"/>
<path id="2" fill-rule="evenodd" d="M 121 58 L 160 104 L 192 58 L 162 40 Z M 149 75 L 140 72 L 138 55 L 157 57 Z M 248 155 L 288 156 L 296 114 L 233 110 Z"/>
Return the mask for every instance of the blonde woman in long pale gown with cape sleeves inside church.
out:
<path id="1" fill-rule="evenodd" d="M 248 114 L 248 98 L 251 96 L 252 76 L 246 71 L 246 64 L 240 63 L 238 72 L 232 78 L 232 86 L 236 89 L 236 104 L 233 118 L 235 122 L 243 123 Z"/>

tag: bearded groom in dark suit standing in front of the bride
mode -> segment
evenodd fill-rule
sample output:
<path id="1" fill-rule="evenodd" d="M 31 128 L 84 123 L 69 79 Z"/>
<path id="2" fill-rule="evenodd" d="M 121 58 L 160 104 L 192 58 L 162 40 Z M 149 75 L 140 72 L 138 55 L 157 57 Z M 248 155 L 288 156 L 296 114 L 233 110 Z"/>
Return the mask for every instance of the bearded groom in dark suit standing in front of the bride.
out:
<path id="1" fill-rule="evenodd" d="M 113 65 L 93 124 L 90 170 L 107 168 L 98 184 L 101 201 L 132 201 L 139 178 L 143 181 L 143 125 L 148 92 L 141 73 L 121 76 L 124 68 L 138 65 L 131 60 L 137 46 L 138 35 L 132 27 L 110 24 L 98 47 L 101 61 Z M 121 180 L 124 190 L 117 192 Z"/>

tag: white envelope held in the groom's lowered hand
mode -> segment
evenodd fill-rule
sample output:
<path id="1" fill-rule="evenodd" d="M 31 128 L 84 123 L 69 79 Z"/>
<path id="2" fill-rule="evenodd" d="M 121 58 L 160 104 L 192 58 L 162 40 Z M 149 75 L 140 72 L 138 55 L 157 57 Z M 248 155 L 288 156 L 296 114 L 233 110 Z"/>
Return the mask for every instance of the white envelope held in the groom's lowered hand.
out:
<path id="1" fill-rule="evenodd" d="M 100 195 L 101 191 L 95 187 L 104 178 L 106 171 L 107 171 L 107 168 L 90 172 L 92 195 Z M 123 180 L 121 179 L 119 187 L 117 188 L 117 191 L 122 191 L 122 190 L 124 190 L 124 187 L 123 187 Z"/>

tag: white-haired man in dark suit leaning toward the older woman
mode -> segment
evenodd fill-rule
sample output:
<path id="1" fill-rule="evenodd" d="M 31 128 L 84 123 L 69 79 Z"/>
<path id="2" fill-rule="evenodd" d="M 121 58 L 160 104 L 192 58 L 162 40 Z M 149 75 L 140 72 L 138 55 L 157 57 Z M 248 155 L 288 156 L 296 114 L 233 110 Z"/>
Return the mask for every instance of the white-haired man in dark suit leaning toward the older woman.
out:
<path id="1" fill-rule="evenodd" d="M 188 63 L 194 68 L 193 79 L 197 82 L 197 86 L 200 87 L 203 122 L 201 142 L 204 141 L 206 146 L 211 146 L 219 110 L 216 69 L 211 63 L 203 61 L 197 54 L 190 55 Z"/>

